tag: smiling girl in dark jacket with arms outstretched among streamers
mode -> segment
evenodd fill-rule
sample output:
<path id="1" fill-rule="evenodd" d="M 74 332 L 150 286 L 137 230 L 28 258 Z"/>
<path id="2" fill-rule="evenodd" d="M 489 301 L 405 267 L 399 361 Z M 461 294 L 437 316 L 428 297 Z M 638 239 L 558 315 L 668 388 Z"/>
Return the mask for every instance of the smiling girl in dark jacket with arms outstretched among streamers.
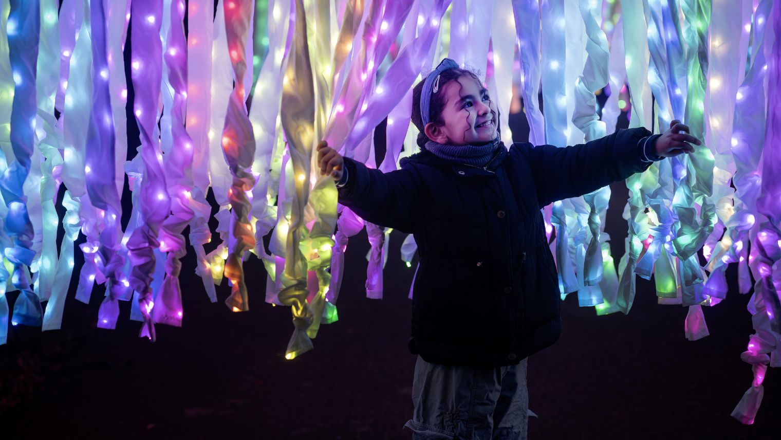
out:
<path id="1" fill-rule="evenodd" d="M 421 152 L 382 173 L 317 146 L 339 202 L 412 233 L 417 354 L 405 427 L 413 438 L 526 438 L 526 360 L 561 331 L 558 277 L 540 209 L 694 152 L 674 120 L 665 134 L 619 130 L 585 145 L 505 148 L 496 103 L 480 79 L 444 59 L 415 85 Z"/>

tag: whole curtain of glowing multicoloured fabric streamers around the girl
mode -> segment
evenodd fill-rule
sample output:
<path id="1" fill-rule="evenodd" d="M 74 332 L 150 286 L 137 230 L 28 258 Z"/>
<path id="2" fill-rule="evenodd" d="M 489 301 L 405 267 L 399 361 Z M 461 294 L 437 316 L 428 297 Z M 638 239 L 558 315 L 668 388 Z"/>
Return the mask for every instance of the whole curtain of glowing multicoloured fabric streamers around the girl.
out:
<path id="1" fill-rule="evenodd" d="M 79 233 L 75 295 L 88 302 L 104 286 L 98 327 L 114 328 L 126 301 L 141 336 L 180 326 L 189 227 L 212 302 L 226 278 L 226 306 L 249 309 L 244 264 L 257 264 L 254 254 L 269 274 L 263 301 L 291 306 L 287 359 L 312 349 L 320 326 L 337 320 L 348 239 L 366 227 L 366 295 L 380 299 L 391 233 L 337 205 L 314 146 L 324 139 L 367 166 L 397 169 L 416 148 L 412 86 L 448 56 L 481 72 L 505 140 L 514 99 L 535 145 L 601 138 L 622 112 L 654 132 L 683 120 L 704 140 L 626 181 L 618 267 L 604 233 L 609 188 L 544 208 L 546 233 L 562 297 L 577 292 L 598 315 L 628 313 L 635 277 L 654 275 L 658 302 L 688 307 L 690 340 L 708 335 L 703 306 L 726 297 L 725 270 L 737 264 L 740 293 L 753 288 L 756 332 L 741 355 L 754 382 L 733 417 L 750 424 L 767 367 L 781 366 L 781 5 L 712 3 L 63 0 L 58 9 L 2 0 L 0 344 L 9 324 L 59 329 Z M 129 98 L 141 145 L 127 160 Z M 408 236 L 408 267 L 414 253 Z"/>

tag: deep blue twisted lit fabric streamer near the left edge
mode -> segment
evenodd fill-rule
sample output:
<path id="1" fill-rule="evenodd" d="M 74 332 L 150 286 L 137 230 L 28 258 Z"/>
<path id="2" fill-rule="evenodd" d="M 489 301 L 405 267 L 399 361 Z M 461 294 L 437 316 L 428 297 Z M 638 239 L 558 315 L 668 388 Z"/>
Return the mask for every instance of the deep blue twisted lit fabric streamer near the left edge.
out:
<path id="1" fill-rule="evenodd" d="M 13 264 L 11 282 L 20 291 L 13 306 L 12 323 L 40 326 L 43 319 L 41 302 L 30 287 L 27 267 L 35 256 L 32 250 L 33 225 L 27 215 L 23 184 L 30 173 L 30 157 L 34 152 L 34 131 L 30 125 L 37 109 L 35 66 L 38 58 L 40 32 L 38 2 L 12 0 L 8 16 L 9 59 L 16 83 L 11 111 L 11 146 L 16 160 L 0 177 L 0 191 L 8 205 L 5 231 L 13 242 L 5 249 L 5 257 Z"/>

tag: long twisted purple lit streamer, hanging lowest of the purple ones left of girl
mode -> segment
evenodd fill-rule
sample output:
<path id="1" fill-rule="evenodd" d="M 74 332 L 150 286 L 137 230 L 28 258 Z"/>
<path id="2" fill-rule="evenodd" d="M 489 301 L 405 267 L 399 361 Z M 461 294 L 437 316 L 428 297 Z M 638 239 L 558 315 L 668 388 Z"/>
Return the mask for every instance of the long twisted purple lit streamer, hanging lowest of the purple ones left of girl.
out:
<path id="1" fill-rule="evenodd" d="M 133 2 L 131 13 L 134 115 L 141 132 L 139 149 L 144 162 L 144 178 L 141 180 L 141 197 L 138 199 L 143 224 L 133 231 L 130 240 L 127 241 L 128 257 L 133 265 L 129 282 L 130 286 L 138 292 L 138 305 L 144 315 L 140 335 L 154 341 L 155 324 L 150 314 L 155 306 L 150 287 L 152 273 L 155 270 L 154 249 L 159 246 L 157 236 L 163 220 L 170 211 L 166 177 L 158 159 L 158 139 L 153 136 L 157 123 L 162 77 L 160 42 L 162 2 L 138 0 Z"/>

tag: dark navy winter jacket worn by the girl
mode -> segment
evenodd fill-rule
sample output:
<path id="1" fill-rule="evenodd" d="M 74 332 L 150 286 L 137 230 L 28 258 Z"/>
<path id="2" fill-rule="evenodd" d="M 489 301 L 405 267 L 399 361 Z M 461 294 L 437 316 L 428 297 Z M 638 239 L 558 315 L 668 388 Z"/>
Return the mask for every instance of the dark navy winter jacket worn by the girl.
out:
<path id="1" fill-rule="evenodd" d="M 558 276 L 540 209 L 647 169 L 650 135 L 634 128 L 566 148 L 501 146 L 485 169 L 425 150 L 390 173 L 345 158 L 339 202 L 415 236 L 410 351 L 430 363 L 499 367 L 556 342 Z"/>

